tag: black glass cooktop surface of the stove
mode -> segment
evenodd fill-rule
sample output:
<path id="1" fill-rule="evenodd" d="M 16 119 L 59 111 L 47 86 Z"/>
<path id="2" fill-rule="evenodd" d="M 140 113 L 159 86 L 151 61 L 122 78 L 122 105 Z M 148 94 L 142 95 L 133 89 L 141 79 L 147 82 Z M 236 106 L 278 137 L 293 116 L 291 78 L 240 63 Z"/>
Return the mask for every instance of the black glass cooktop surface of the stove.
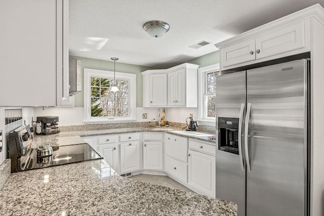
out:
<path id="1" fill-rule="evenodd" d="M 49 157 L 36 157 L 36 149 L 32 149 L 28 170 L 81 162 L 103 158 L 87 143 L 52 147 L 53 154 Z"/>

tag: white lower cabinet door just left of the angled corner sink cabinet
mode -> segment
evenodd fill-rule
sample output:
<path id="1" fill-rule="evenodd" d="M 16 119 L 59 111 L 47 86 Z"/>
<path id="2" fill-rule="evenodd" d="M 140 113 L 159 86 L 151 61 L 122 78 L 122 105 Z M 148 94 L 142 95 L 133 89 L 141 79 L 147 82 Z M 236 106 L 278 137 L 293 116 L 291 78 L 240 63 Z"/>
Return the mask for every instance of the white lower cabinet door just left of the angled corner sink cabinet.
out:
<path id="1" fill-rule="evenodd" d="M 140 169 L 140 144 L 129 142 L 120 144 L 120 174 Z"/>

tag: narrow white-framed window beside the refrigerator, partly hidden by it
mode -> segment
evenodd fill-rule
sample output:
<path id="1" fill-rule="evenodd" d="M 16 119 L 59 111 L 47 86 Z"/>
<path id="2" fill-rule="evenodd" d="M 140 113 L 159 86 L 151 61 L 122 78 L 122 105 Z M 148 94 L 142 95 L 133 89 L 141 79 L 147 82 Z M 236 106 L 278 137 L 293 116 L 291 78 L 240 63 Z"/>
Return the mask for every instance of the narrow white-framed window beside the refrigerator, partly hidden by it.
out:
<path id="1" fill-rule="evenodd" d="M 199 71 L 199 118 L 204 125 L 215 126 L 216 76 L 219 64 L 198 69 Z"/>

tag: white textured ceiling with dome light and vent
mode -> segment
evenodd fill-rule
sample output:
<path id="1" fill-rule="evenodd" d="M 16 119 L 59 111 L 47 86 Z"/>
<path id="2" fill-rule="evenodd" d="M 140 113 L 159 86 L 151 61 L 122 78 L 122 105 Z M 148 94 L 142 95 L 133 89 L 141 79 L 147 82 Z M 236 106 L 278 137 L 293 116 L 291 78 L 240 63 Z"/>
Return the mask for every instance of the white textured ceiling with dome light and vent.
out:
<path id="1" fill-rule="evenodd" d="M 217 51 L 214 44 L 324 0 L 70 0 L 69 54 L 168 68 Z M 170 24 L 153 38 L 143 24 Z M 199 49 L 189 46 L 207 40 Z"/>

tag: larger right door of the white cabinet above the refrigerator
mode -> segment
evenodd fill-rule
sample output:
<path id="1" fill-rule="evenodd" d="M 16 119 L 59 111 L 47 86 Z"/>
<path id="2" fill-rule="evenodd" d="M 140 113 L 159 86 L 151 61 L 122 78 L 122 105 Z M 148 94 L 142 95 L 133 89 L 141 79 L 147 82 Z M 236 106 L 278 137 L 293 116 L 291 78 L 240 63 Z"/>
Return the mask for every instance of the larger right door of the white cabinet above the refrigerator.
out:
<path id="1" fill-rule="evenodd" d="M 255 40 L 256 59 L 305 47 L 304 21 L 273 31 Z"/>

